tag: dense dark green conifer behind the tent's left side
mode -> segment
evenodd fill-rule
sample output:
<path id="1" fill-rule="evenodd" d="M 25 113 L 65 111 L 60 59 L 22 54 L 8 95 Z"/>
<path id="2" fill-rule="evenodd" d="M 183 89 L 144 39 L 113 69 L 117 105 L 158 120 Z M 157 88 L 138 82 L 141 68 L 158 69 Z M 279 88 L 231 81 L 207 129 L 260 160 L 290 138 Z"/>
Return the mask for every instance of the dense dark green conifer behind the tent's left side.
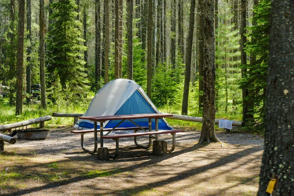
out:
<path id="1" fill-rule="evenodd" d="M 50 73 L 57 71 L 63 89 L 78 94 L 88 90 L 88 79 L 85 73 L 82 52 L 86 47 L 80 43 L 81 23 L 75 20 L 77 5 L 74 0 L 59 0 L 51 5 L 55 21 L 48 33 Z M 56 79 L 56 78 L 52 78 Z"/>

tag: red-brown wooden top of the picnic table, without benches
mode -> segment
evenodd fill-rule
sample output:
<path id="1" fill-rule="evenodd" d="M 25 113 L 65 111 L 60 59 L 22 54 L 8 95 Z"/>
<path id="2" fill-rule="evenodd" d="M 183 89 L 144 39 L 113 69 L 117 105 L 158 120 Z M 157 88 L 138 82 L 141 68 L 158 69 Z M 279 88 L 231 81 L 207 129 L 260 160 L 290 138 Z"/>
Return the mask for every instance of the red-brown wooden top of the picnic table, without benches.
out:
<path id="1" fill-rule="evenodd" d="M 79 119 L 90 120 L 94 122 L 103 122 L 110 120 L 126 120 L 126 119 L 145 119 L 145 118 L 164 118 L 173 116 L 172 114 L 158 114 L 158 113 L 148 113 L 148 114 L 129 114 L 129 115 L 113 115 L 113 116 L 88 116 L 79 117 Z"/>

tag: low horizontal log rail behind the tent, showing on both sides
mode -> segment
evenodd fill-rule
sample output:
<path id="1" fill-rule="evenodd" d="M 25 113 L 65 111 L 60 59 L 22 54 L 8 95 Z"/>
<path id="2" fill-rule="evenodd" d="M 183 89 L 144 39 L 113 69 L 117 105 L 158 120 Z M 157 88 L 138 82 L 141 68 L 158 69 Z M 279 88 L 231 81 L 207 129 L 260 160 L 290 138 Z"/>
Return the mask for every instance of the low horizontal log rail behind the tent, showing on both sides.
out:
<path id="1" fill-rule="evenodd" d="M 74 117 L 76 121 L 78 117 L 82 116 L 83 114 L 65 114 L 65 113 L 53 113 L 53 117 Z M 192 116 L 184 116 L 184 115 L 177 115 L 173 114 L 172 117 L 165 117 L 168 119 L 175 119 L 175 120 L 182 120 L 182 121 L 191 121 L 191 122 L 198 122 L 202 123 L 202 117 L 192 117 Z M 215 124 L 219 124 L 221 119 L 215 119 Z M 74 123 L 76 123 L 76 121 Z M 243 121 L 233 121 L 232 126 L 245 126 L 245 122 Z"/>

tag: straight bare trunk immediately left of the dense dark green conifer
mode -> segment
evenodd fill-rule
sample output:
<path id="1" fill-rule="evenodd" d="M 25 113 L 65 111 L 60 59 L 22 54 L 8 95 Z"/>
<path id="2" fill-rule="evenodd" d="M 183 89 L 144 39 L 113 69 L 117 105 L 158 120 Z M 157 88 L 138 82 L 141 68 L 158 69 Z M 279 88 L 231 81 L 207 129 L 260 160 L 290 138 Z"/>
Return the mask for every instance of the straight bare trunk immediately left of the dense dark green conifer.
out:
<path id="1" fill-rule="evenodd" d="M 40 42 L 39 42 L 39 60 L 40 60 L 40 83 L 41 83 L 41 105 L 43 109 L 46 109 L 46 83 L 45 83 L 45 3 L 44 0 L 40 0 L 40 14 L 39 14 L 39 26 L 40 26 Z"/>

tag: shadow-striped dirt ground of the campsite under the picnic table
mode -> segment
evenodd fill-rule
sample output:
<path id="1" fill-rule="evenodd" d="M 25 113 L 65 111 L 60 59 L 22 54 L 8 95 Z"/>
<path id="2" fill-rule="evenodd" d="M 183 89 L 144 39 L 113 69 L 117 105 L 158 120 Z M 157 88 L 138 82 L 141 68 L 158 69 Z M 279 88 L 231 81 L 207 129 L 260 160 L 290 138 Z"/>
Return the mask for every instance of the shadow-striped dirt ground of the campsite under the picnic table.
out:
<path id="1" fill-rule="evenodd" d="M 1 196 L 255 196 L 263 139 L 218 132 L 221 143 L 196 145 L 200 131 L 176 135 L 176 148 L 164 156 L 120 140 L 116 160 L 97 160 L 80 147 L 70 127 L 51 129 L 42 141 L 18 139 L 0 153 Z M 92 134 L 86 147 L 92 149 Z M 170 135 L 160 136 L 171 144 Z M 139 143 L 144 144 L 143 137 Z M 115 142 L 104 143 L 114 150 Z"/>

